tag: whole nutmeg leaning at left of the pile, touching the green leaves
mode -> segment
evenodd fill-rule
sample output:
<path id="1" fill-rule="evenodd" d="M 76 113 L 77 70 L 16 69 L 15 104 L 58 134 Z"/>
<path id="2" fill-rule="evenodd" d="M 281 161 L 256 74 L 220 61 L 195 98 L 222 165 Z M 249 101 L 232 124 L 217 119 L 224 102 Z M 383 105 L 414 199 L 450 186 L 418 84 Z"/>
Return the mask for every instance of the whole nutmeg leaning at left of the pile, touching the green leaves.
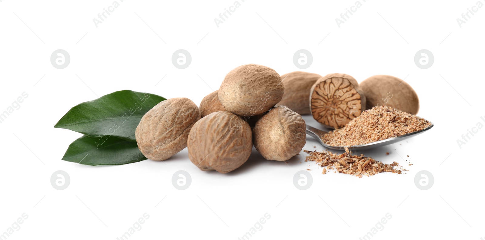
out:
<path id="1" fill-rule="evenodd" d="M 199 119 L 199 108 L 188 98 L 162 101 L 136 127 L 138 148 L 148 159 L 166 160 L 187 147 L 190 129 Z"/>

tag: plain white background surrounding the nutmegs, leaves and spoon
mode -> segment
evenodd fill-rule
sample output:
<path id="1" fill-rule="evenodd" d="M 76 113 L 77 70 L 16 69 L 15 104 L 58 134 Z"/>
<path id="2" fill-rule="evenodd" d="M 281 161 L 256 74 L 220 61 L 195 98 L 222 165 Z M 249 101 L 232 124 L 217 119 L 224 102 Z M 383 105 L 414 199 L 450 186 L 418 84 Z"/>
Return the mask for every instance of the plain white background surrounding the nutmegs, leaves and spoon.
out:
<path id="1" fill-rule="evenodd" d="M 477 0 L 367 0 L 339 27 L 335 19 L 355 0 L 240 2 L 217 27 L 214 18 L 233 0 L 125 0 L 96 27 L 93 18 L 112 0 L 1 0 L 0 111 L 22 92 L 29 96 L 0 123 L 0 233 L 25 212 L 29 217 L 9 240 L 114 240 L 147 213 L 130 240 L 236 240 L 269 213 L 251 239 L 359 239 L 390 213 L 372 239 L 485 238 L 485 129 L 461 149 L 456 142 L 477 122 L 485 125 L 485 7 L 460 28 L 456 19 Z M 65 69 L 50 63 L 56 49 L 70 54 Z M 177 49 L 192 55 L 188 68 L 172 64 Z M 281 75 L 299 70 L 292 62 L 298 49 L 313 55 L 308 72 L 345 73 L 359 82 L 371 75 L 407 76 L 420 97 L 418 115 L 435 127 L 392 148 L 362 153 L 410 172 L 362 179 L 322 175 L 317 165 L 303 162 L 303 152 L 286 164 L 254 152 L 228 174 L 200 171 L 186 149 L 163 162 L 119 166 L 61 160 L 81 134 L 53 126 L 74 105 L 124 89 L 188 97 L 198 105 L 242 64 L 266 65 Z M 434 54 L 429 69 L 414 62 L 420 49 Z M 307 136 L 304 149 L 314 146 L 323 150 Z M 301 191 L 293 175 L 307 168 L 313 184 Z M 62 191 L 50 185 L 57 170 L 71 178 Z M 192 176 L 187 190 L 172 185 L 178 170 Z M 433 174 L 431 189 L 416 187 L 420 170 Z"/>

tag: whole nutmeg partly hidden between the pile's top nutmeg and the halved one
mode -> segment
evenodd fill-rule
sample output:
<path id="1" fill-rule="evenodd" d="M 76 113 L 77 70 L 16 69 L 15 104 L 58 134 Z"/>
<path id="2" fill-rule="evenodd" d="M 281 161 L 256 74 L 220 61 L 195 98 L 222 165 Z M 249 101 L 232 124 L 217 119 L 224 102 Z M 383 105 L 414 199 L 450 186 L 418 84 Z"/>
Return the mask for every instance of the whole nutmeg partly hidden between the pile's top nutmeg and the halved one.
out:
<path id="1" fill-rule="evenodd" d="M 300 115 L 310 114 L 310 89 L 321 77 L 301 71 L 281 75 L 285 93 L 277 105 L 287 106 Z"/>

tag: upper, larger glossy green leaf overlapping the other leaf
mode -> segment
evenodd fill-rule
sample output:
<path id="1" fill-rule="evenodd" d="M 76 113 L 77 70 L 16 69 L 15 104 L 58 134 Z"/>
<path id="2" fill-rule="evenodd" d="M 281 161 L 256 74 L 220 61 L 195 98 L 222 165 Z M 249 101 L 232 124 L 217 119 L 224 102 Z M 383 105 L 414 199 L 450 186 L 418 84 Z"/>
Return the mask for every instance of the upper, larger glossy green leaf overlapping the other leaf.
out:
<path id="1" fill-rule="evenodd" d="M 135 141 L 135 129 L 143 115 L 163 100 L 166 99 L 155 94 L 115 91 L 74 106 L 54 127 L 90 137 L 112 135 Z"/>

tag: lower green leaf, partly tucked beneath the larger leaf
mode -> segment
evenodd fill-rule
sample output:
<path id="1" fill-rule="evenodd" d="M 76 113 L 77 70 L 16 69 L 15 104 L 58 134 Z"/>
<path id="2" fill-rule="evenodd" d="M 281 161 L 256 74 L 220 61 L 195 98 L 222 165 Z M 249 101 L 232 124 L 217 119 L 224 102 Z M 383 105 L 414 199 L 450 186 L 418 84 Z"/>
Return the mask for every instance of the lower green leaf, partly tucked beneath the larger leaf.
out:
<path id="1" fill-rule="evenodd" d="M 146 157 L 133 141 L 114 136 L 81 136 L 69 145 L 62 159 L 86 165 L 121 165 L 140 162 Z"/>

